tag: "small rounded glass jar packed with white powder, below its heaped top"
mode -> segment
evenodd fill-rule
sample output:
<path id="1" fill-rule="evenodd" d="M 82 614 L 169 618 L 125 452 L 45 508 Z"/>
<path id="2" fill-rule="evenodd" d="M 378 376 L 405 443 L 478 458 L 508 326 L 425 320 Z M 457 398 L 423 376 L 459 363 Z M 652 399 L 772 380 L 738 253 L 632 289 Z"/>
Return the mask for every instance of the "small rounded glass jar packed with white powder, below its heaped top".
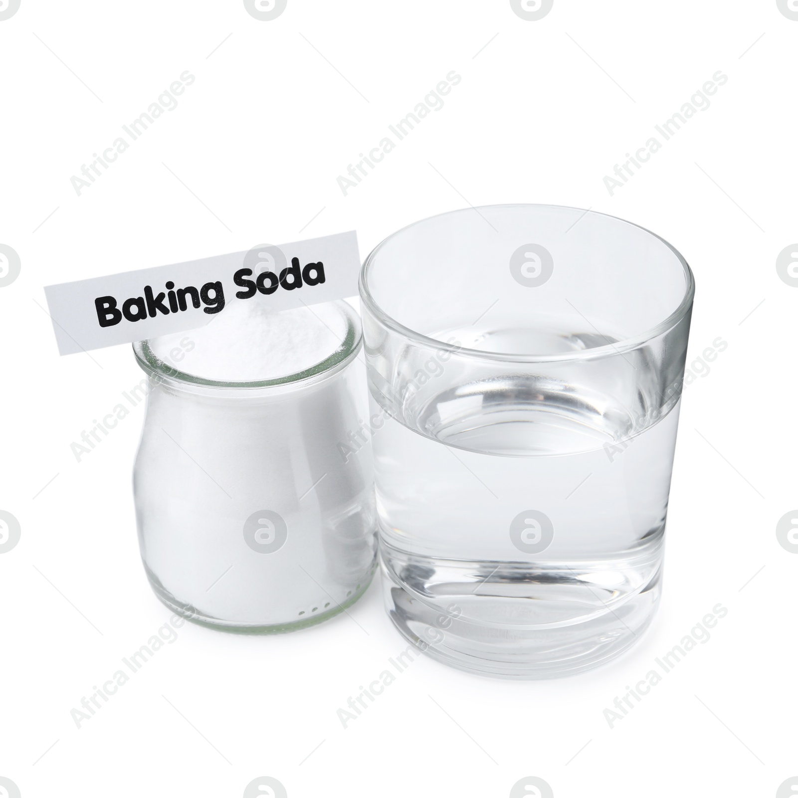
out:
<path id="1" fill-rule="evenodd" d="M 343 332 L 326 357 L 263 381 L 199 377 L 133 345 L 150 386 L 133 473 L 141 558 L 158 598 L 203 625 L 299 629 L 372 579 L 361 326 L 346 302 L 327 308 Z"/>

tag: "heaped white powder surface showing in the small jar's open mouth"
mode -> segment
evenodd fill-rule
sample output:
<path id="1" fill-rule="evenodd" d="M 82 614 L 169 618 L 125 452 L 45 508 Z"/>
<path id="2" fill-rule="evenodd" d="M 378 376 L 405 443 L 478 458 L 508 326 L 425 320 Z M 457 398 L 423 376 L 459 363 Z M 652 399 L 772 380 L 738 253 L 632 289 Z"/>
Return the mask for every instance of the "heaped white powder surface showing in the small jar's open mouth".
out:
<path id="1" fill-rule="evenodd" d="M 345 337 L 346 319 L 331 303 L 274 311 L 255 296 L 233 299 L 206 326 L 152 338 L 149 346 L 157 358 L 195 377 L 250 382 L 310 369 Z"/>

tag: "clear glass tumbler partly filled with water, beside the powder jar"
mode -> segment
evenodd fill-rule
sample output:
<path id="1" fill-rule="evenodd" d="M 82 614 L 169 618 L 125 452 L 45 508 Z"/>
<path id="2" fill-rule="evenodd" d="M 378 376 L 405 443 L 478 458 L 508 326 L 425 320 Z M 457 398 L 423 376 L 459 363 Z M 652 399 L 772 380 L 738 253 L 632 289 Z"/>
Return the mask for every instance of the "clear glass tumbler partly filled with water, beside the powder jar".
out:
<path id="1" fill-rule="evenodd" d="M 626 650 L 661 591 L 685 259 L 612 216 L 478 207 L 390 236 L 360 291 L 397 629 L 505 678 Z"/>

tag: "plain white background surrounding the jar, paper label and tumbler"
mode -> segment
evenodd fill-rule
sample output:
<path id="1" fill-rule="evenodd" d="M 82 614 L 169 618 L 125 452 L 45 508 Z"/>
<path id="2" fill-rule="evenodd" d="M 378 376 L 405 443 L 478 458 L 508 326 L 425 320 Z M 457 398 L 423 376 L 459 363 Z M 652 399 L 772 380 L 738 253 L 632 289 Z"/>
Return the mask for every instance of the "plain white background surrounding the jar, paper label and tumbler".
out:
<path id="1" fill-rule="evenodd" d="M 290 798 L 508 796 L 524 776 L 556 798 L 776 796 L 798 774 L 798 555 L 775 533 L 798 506 L 798 288 L 775 266 L 798 240 L 796 46 L 776 0 L 555 0 L 538 22 L 507 0 L 288 0 L 272 22 L 235 0 L 22 0 L 0 22 L 0 243 L 22 263 L 0 288 L 0 509 L 22 526 L 0 555 L 0 776 L 23 798 L 242 796 L 256 776 Z M 77 196 L 81 164 L 187 69 L 178 107 Z M 347 165 L 452 69 L 444 108 L 344 196 Z M 719 69 L 709 109 L 610 196 L 614 164 Z M 641 642 L 542 682 L 421 658 L 343 729 L 337 709 L 405 649 L 375 583 L 295 634 L 187 624 L 77 729 L 70 709 L 168 610 L 136 541 L 143 405 L 80 463 L 69 448 L 142 375 L 129 346 L 59 358 L 42 286 L 353 228 L 365 256 L 512 202 L 656 231 L 697 279 L 688 363 L 728 342 L 685 389 Z M 610 729 L 603 710 L 717 602 L 709 642 Z"/>

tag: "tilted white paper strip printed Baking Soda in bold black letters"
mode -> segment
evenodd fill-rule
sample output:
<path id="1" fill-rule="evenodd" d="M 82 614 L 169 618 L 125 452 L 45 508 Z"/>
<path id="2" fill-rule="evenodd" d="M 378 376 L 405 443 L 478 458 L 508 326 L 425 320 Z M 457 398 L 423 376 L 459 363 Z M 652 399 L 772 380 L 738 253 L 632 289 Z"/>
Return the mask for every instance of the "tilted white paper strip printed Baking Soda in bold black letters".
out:
<path id="1" fill-rule="evenodd" d="M 227 302 L 268 297 L 270 310 L 358 293 L 354 231 L 247 252 L 46 286 L 61 354 L 142 341 L 211 322 Z"/>

